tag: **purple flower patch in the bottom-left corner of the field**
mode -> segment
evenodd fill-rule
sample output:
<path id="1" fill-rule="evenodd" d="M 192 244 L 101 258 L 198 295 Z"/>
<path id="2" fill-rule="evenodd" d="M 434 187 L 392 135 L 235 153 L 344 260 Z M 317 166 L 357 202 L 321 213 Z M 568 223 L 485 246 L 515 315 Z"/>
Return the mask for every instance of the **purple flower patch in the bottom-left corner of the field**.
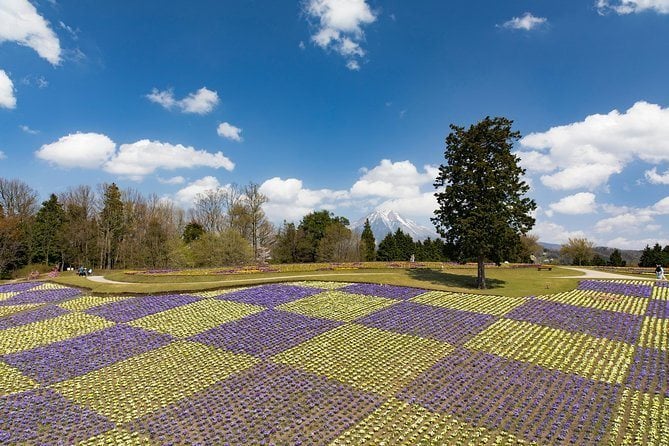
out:
<path id="1" fill-rule="evenodd" d="M 49 389 L 0 397 L 3 444 L 75 444 L 113 427 L 102 415 Z"/>

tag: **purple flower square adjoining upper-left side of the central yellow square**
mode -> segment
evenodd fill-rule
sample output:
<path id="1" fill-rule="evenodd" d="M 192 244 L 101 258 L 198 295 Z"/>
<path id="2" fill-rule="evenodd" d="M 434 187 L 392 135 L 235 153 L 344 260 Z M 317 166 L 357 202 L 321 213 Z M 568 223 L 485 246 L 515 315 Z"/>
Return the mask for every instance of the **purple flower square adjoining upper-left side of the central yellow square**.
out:
<path id="1" fill-rule="evenodd" d="M 266 310 L 223 324 L 192 340 L 266 358 L 339 326 L 339 322 L 287 311 Z"/>

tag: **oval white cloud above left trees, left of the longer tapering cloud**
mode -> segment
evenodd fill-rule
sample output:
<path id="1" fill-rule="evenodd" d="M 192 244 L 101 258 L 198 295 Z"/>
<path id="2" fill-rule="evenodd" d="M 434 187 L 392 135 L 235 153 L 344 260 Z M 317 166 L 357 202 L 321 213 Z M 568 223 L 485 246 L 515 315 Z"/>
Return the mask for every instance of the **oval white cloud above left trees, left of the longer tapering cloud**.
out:
<path id="1" fill-rule="evenodd" d="M 98 133 L 74 133 L 43 145 L 35 155 L 59 167 L 97 169 L 116 151 L 116 143 Z"/>

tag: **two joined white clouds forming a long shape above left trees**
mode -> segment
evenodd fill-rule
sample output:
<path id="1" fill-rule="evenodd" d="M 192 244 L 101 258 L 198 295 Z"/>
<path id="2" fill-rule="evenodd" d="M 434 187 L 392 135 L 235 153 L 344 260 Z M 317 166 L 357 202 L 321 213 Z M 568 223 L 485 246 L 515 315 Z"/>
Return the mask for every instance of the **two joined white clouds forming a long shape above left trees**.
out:
<path id="1" fill-rule="evenodd" d="M 131 144 L 116 143 L 106 135 L 75 133 L 43 145 L 35 155 L 65 168 L 103 169 L 106 172 L 141 180 L 158 169 L 194 167 L 234 169 L 221 152 L 210 153 L 181 144 L 143 139 Z"/>

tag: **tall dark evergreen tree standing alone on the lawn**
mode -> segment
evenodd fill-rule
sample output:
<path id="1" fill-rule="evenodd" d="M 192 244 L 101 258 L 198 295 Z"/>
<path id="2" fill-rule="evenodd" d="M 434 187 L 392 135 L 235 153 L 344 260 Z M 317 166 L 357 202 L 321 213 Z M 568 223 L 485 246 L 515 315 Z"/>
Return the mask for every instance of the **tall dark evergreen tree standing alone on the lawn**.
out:
<path id="1" fill-rule="evenodd" d="M 439 208 L 432 222 L 460 255 L 476 259 L 478 288 L 486 288 L 485 260 L 503 260 L 534 225 L 536 203 L 525 197 L 525 170 L 511 152 L 520 138 L 512 123 L 486 117 L 469 129 L 451 125 L 434 183 Z"/>

